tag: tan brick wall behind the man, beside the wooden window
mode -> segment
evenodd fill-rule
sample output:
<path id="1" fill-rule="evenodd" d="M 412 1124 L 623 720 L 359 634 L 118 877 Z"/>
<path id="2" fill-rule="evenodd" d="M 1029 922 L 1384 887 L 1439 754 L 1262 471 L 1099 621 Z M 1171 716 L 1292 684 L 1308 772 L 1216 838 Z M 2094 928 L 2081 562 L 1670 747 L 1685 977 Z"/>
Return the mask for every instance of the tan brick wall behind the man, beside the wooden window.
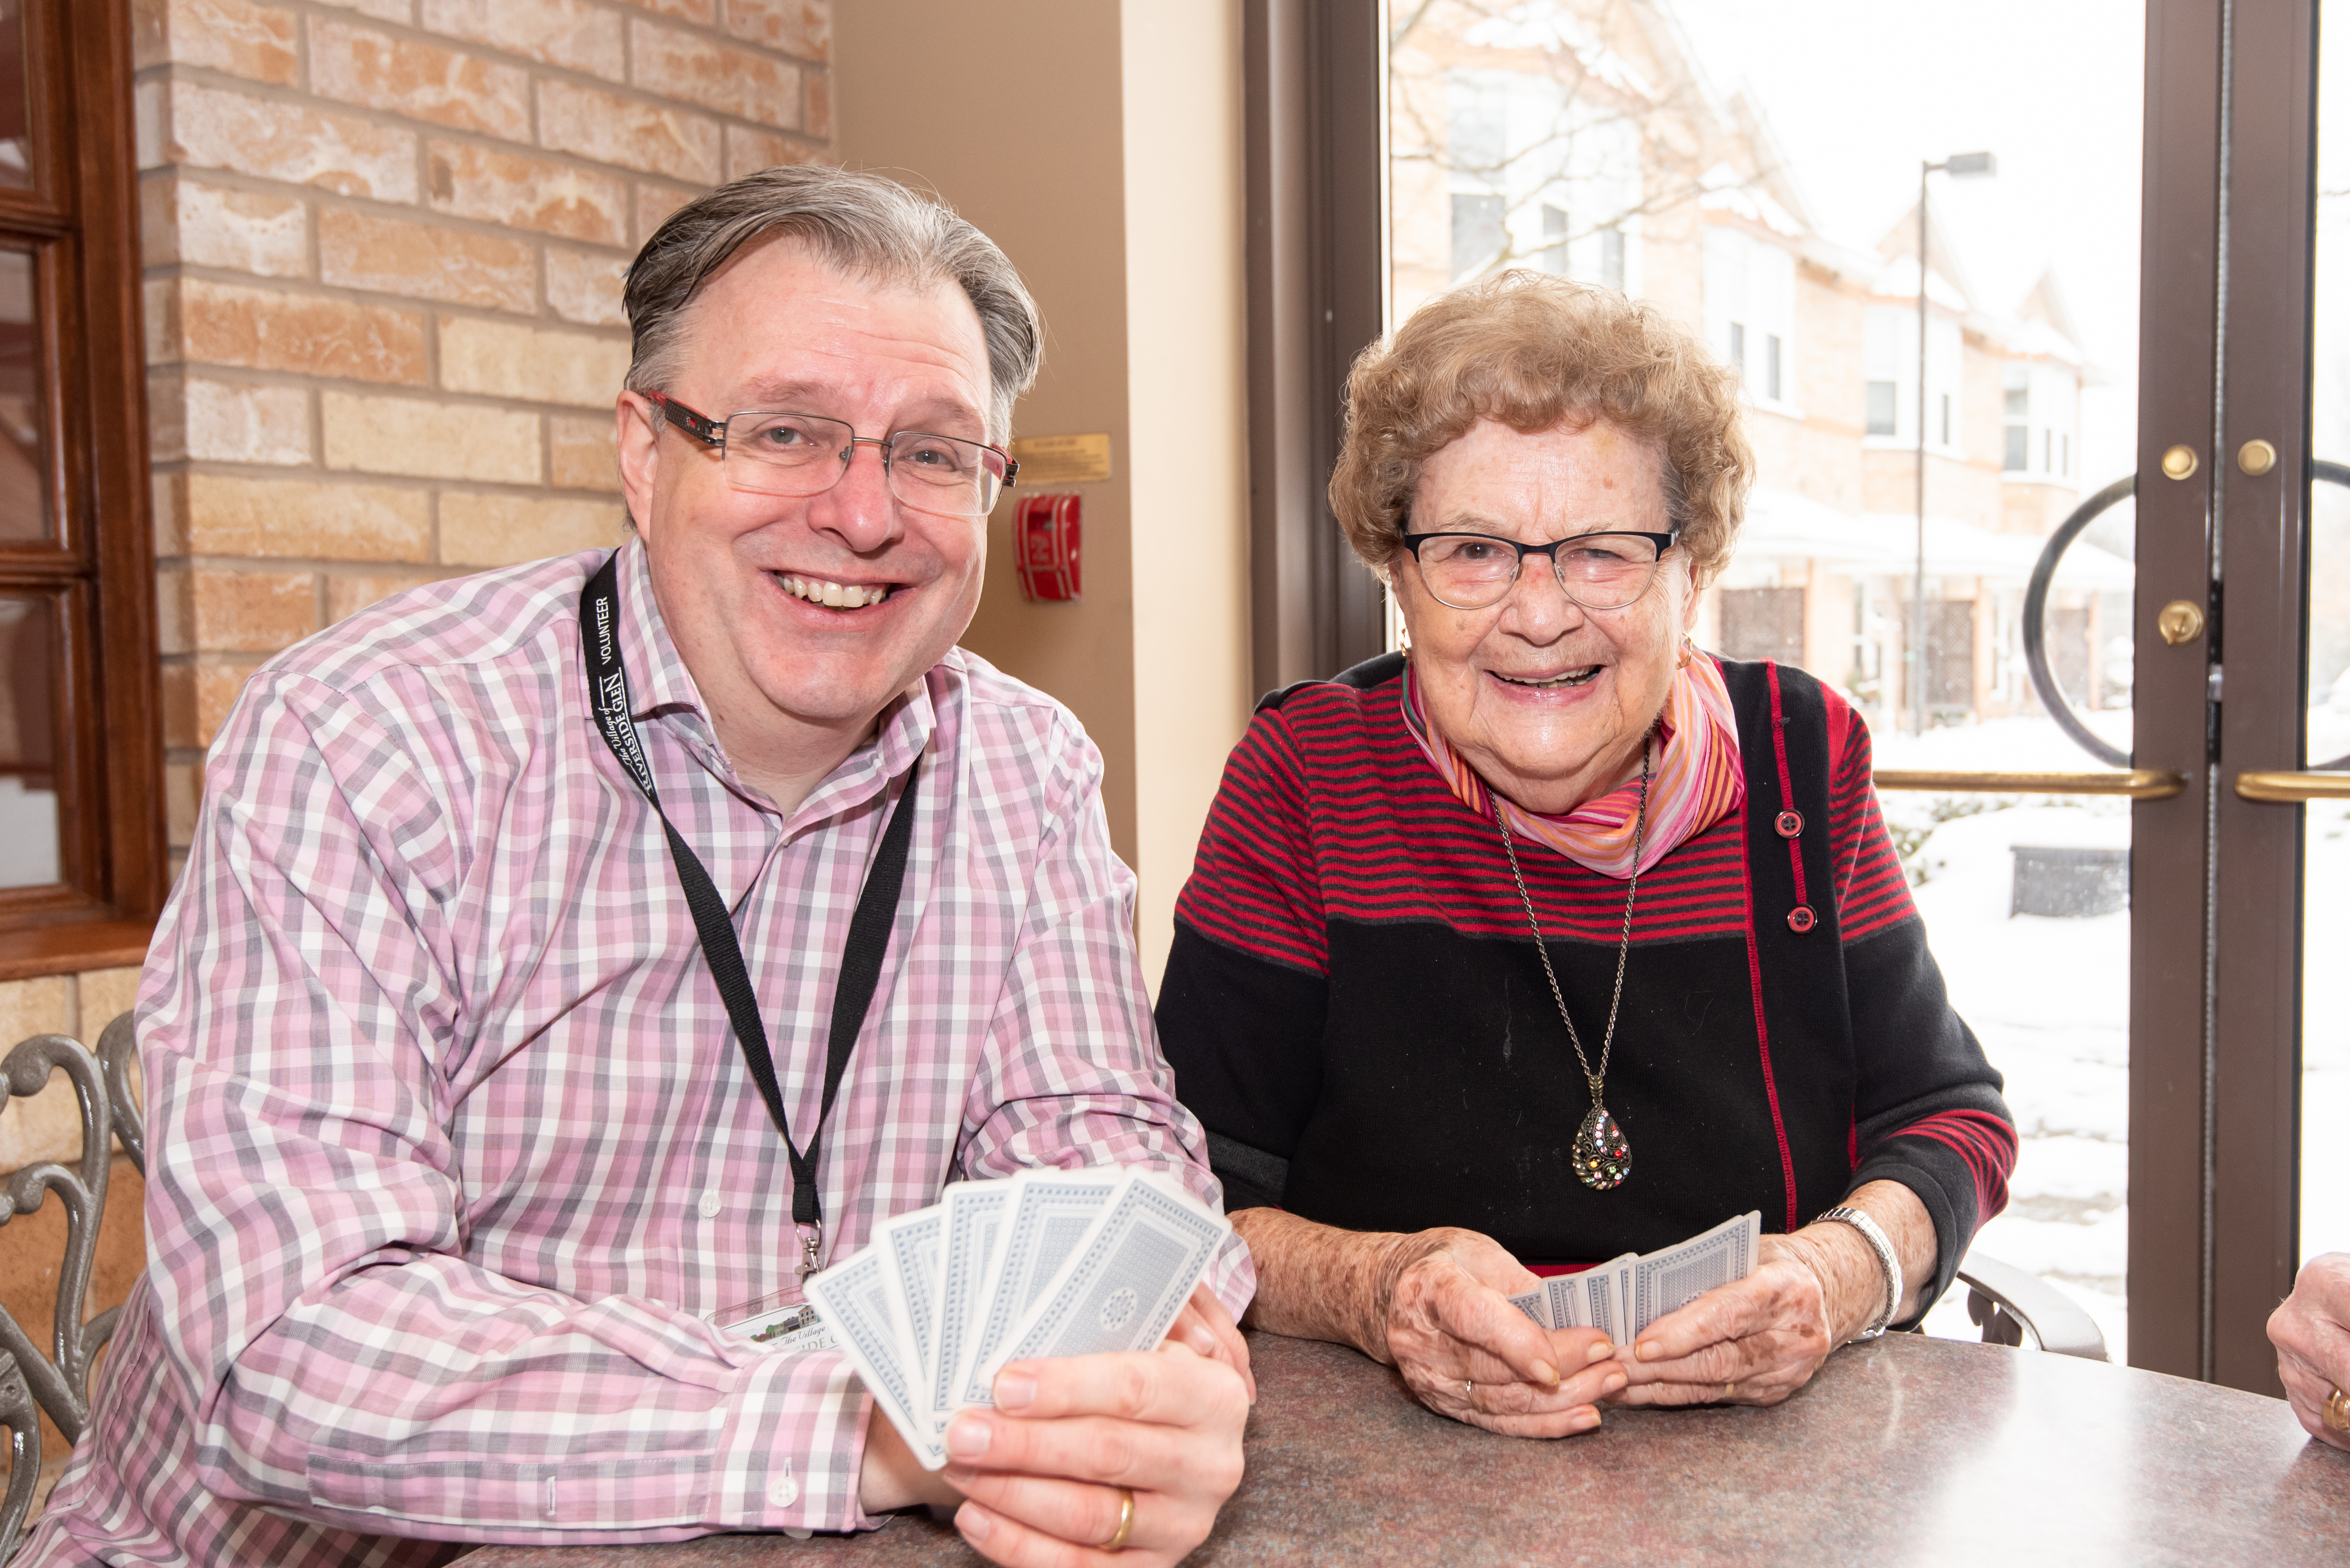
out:
<path id="1" fill-rule="evenodd" d="M 270 653 L 616 542 L 620 275 L 832 138 L 830 0 L 132 0 L 167 800 Z M 5 1042 L 0 1042 L 5 1045 Z"/>

